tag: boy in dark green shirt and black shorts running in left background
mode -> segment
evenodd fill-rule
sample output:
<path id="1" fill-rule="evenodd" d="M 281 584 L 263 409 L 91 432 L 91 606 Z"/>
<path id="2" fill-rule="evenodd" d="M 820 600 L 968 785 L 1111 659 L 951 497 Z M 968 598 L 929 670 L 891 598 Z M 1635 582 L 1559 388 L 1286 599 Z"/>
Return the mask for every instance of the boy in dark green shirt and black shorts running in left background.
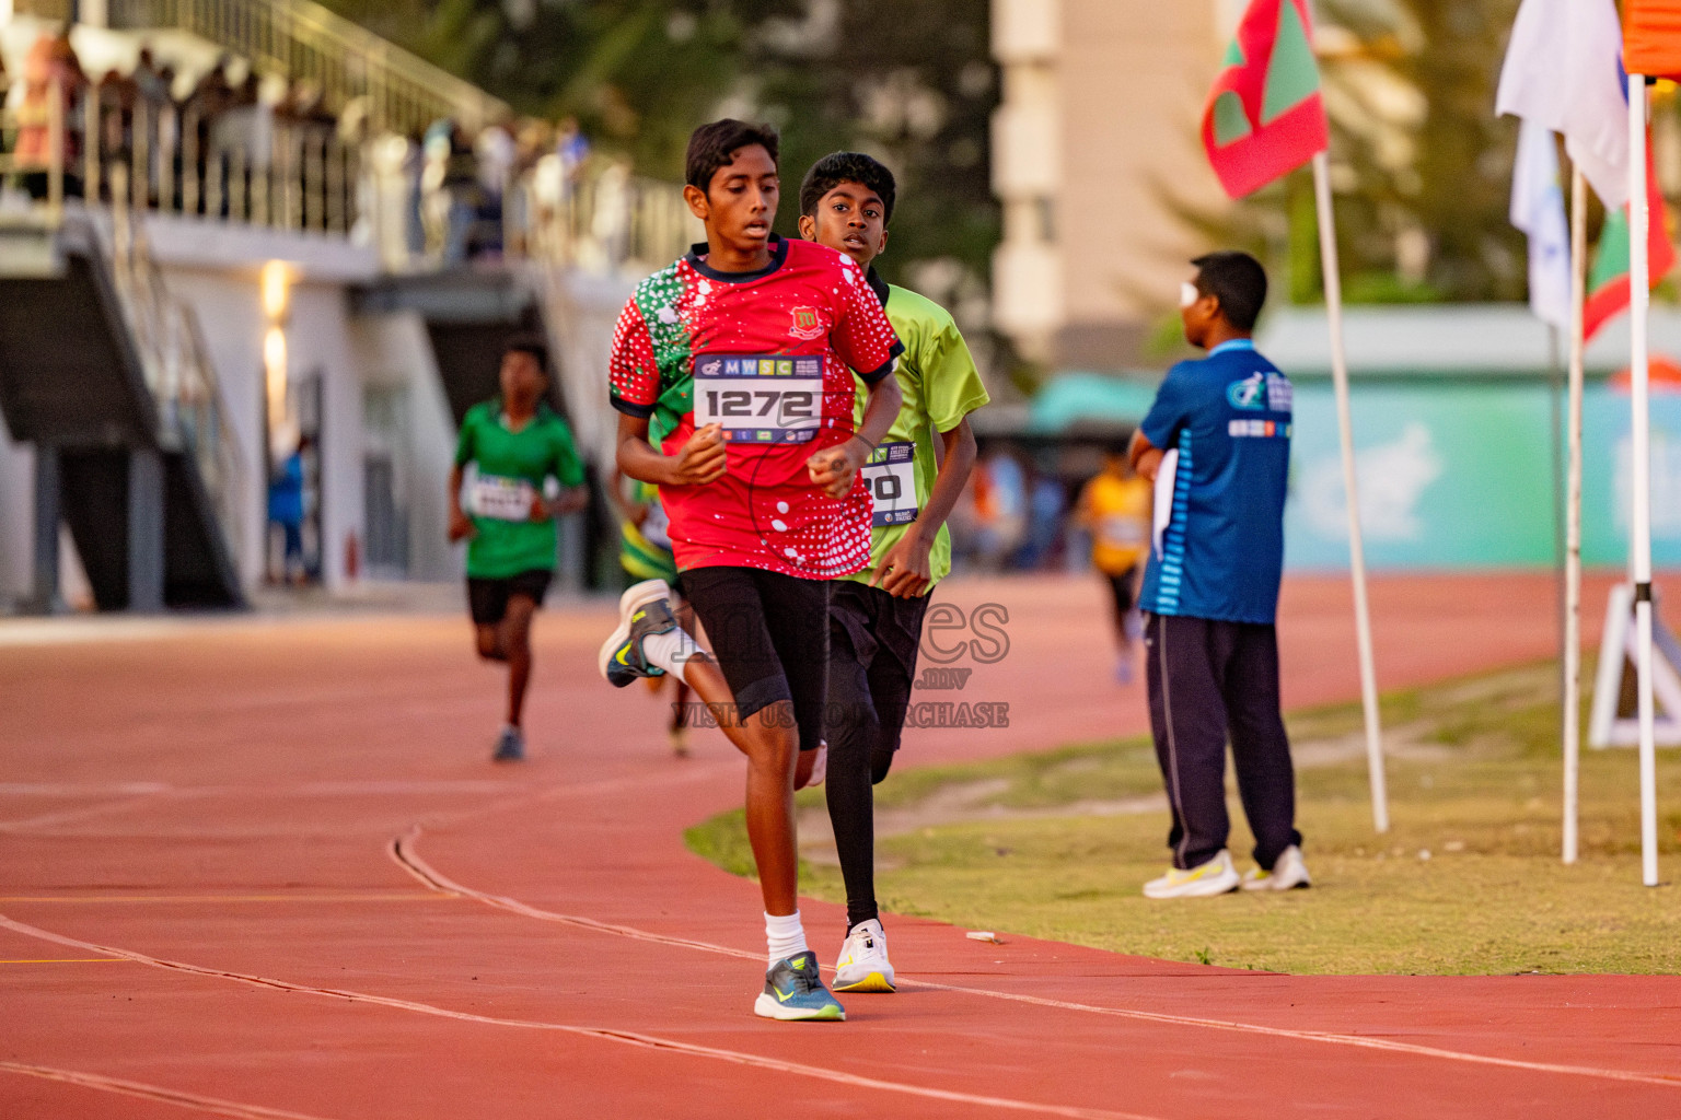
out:
<path id="1" fill-rule="evenodd" d="M 449 474 L 449 539 L 467 541 L 477 652 L 508 663 L 508 724 L 496 741 L 498 762 L 524 757 L 531 616 L 555 578 L 555 517 L 588 502 L 572 428 L 543 400 L 548 378 L 541 341 L 508 343 L 501 396 L 467 410 Z M 551 490 L 550 480 L 560 489 Z"/>

